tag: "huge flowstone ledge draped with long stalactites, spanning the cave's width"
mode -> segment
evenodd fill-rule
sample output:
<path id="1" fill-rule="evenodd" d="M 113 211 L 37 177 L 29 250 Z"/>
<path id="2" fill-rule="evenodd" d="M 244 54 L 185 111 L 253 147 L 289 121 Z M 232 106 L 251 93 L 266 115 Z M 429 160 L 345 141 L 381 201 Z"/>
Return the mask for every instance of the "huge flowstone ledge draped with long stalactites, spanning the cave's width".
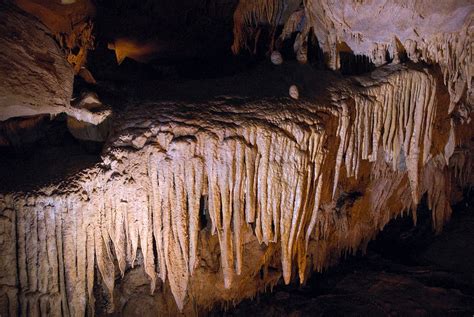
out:
<path id="1" fill-rule="evenodd" d="M 100 164 L 0 196 L 0 312 L 120 309 L 134 266 L 158 311 L 236 302 L 364 248 L 425 194 L 441 229 L 451 171 L 469 182 L 472 164 L 443 136 L 440 77 L 392 65 L 317 99 L 130 107 Z"/>

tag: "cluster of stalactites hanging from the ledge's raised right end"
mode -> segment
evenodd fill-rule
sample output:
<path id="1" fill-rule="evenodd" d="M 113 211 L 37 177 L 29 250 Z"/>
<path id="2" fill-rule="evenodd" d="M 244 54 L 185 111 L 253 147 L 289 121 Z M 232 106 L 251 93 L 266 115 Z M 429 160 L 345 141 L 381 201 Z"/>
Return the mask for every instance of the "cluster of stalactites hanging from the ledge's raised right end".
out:
<path id="1" fill-rule="evenodd" d="M 376 161 L 382 146 L 394 170 L 400 169 L 401 163 L 406 166 L 413 201 L 418 203 L 420 168 L 430 155 L 431 126 L 436 115 L 435 80 L 421 71 L 401 71 L 385 84 L 362 84 L 364 92 L 349 97 L 354 100 L 354 122 L 349 122 L 345 104 L 339 116 L 333 196 L 343 161 L 346 175 L 357 178 L 361 160 Z"/>

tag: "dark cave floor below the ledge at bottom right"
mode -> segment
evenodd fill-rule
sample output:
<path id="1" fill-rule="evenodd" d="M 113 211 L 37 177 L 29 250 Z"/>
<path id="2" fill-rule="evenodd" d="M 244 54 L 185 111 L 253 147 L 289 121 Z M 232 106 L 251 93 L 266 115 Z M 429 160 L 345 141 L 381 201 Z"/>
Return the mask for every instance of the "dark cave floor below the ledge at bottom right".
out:
<path id="1" fill-rule="evenodd" d="M 472 316 L 474 195 L 434 235 L 430 220 L 392 220 L 367 254 L 349 256 L 303 286 L 277 285 L 212 316 Z M 418 215 L 429 213 L 419 208 Z M 421 223 L 420 223 L 421 222 Z"/>

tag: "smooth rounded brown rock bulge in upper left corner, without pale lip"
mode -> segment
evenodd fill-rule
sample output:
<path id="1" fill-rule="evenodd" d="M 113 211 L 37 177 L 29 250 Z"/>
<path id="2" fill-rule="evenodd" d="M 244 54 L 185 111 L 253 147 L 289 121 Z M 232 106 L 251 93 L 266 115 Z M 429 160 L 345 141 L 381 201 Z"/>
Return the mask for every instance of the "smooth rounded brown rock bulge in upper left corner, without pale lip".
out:
<path id="1" fill-rule="evenodd" d="M 0 120 L 64 112 L 74 72 L 50 31 L 5 4 L 0 20 Z"/>

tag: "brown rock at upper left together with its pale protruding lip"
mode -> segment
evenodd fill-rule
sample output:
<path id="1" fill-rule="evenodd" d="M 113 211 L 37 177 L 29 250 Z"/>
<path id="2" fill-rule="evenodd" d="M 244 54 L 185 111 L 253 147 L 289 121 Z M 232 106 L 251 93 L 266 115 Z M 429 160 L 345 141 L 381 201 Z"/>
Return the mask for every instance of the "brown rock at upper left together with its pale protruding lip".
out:
<path id="1" fill-rule="evenodd" d="M 57 21 L 54 15 L 46 16 Z M 59 33 L 54 33 L 35 16 L 8 3 L 0 4 L 0 18 L 2 146 L 34 141 L 35 129 L 61 113 L 77 125 L 95 126 L 107 121 L 111 114 L 107 106 L 92 109 L 79 102 L 71 104 L 74 68 L 80 65 L 71 60 L 58 38 L 58 34 L 69 34 L 60 28 L 63 24 L 70 26 L 69 20 L 59 23 L 55 31 Z"/>

